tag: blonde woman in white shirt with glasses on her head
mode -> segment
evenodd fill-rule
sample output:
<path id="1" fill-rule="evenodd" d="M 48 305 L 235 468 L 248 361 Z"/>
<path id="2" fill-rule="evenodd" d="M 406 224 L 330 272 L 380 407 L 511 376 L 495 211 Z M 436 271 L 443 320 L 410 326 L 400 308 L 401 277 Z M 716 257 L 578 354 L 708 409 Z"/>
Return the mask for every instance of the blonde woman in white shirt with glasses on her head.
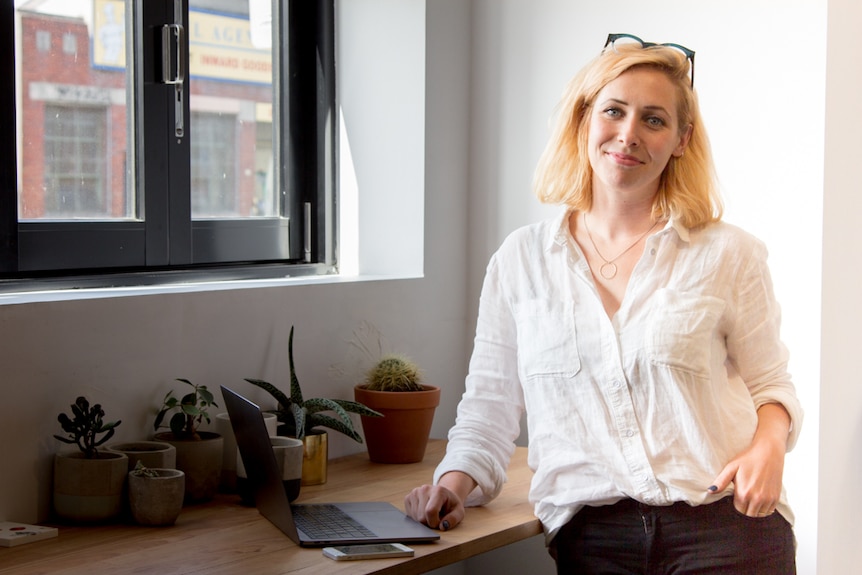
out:
<path id="1" fill-rule="evenodd" d="M 492 257 L 433 485 L 493 499 L 524 411 L 558 573 L 795 573 L 784 454 L 802 411 L 766 249 L 721 221 L 694 52 L 612 34 L 570 83 L 534 188 L 560 215 Z"/>

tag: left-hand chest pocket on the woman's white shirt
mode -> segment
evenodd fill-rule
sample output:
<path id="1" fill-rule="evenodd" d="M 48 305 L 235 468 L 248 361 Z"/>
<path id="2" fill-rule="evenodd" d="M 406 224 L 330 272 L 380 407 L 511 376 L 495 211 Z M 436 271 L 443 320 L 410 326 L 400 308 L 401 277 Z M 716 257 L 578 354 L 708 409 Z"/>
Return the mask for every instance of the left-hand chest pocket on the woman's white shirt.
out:
<path id="1" fill-rule="evenodd" d="M 530 300 L 514 313 L 521 377 L 574 377 L 581 370 L 573 302 Z"/>

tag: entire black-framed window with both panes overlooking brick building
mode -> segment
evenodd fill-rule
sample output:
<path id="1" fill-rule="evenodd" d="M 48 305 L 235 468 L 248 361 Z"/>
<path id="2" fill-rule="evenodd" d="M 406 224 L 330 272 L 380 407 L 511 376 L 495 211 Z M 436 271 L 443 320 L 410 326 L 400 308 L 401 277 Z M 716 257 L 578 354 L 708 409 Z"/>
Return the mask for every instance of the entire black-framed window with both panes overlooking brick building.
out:
<path id="1" fill-rule="evenodd" d="M 334 270 L 333 0 L 9 4 L 0 290 Z"/>

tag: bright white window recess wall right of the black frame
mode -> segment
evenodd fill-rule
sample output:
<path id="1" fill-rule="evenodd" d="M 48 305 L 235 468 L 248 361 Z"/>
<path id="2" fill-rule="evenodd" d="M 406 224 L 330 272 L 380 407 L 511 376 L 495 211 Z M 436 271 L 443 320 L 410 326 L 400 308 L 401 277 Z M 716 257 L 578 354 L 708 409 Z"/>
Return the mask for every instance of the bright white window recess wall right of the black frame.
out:
<path id="1" fill-rule="evenodd" d="M 365 275 L 422 276 L 424 6 L 424 0 L 337 3 L 339 206 L 356 206 L 350 215 L 340 212 L 339 245 L 342 253 L 356 252 L 357 271 Z M 355 232 L 345 235 L 350 216 Z"/>

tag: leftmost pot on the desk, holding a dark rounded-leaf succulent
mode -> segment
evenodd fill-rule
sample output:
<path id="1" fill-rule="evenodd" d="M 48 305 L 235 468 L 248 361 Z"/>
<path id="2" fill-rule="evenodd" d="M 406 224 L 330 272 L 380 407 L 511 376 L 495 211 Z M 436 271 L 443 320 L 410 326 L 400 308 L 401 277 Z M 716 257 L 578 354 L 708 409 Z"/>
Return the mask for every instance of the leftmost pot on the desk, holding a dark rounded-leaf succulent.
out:
<path id="1" fill-rule="evenodd" d="M 54 511 L 63 519 L 107 521 L 123 509 L 123 488 L 129 472 L 122 453 L 101 451 L 93 459 L 80 452 L 54 456 Z"/>

